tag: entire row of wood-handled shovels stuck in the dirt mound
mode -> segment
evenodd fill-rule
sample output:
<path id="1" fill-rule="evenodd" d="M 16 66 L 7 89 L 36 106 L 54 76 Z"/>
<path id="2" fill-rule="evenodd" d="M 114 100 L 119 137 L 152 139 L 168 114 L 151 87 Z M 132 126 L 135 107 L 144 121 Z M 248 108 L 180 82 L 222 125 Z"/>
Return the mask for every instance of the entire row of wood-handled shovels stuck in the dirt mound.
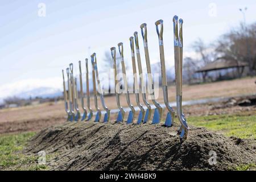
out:
<path id="1" fill-rule="evenodd" d="M 186 139 L 188 135 L 189 127 L 187 125 L 187 121 L 185 119 L 184 114 L 182 113 L 182 64 L 183 64 L 183 19 L 179 19 L 175 15 L 173 18 L 174 23 L 174 56 L 175 56 L 175 82 L 176 82 L 176 104 L 177 109 L 176 112 L 172 109 L 170 102 L 168 101 L 168 88 L 167 88 L 167 78 L 166 78 L 166 67 L 165 67 L 165 59 L 164 59 L 164 46 L 163 46 L 163 20 L 158 20 L 155 22 L 156 32 L 159 39 L 159 52 L 160 52 L 160 64 L 161 64 L 161 72 L 162 72 L 162 89 L 163 89 L 163 96 L 164 96 L 164 104 L 167 107 L 168 113 L 166 115 L 166 120 L 164 122 L 165 126 L 172 126 L 174 121 L 174 115 L 177 115 L 181 126 L 178 131 L 180 135 L 180 139 Z M 146 67 L 147 67 L 147 78 L 148 82 L 152 84 L 154 81 L 152 80 L 152 73 L 151 73 L 151 65 L 150 65 L 150 57 L 148 52 L 148 43 L 147 43 L 147 24 L 141 24 L 141 33 L 143 38 L 143 46 L 144 46 L 144 53 L 146 59 Z M 135 43 L 135 45 L 134 45 Z M 134 82 L 133 88 L 135 88 L 135 98 L 137 105 L 139 107 L 139 115 L 137 119 L 137 123 L 146 123 L 150 120 L 152 111 L 154 110 L 154 115 L 152 117 L 152 124 L 159 123 L 162 119 L 163 115 L 163 107 L 159 104 L 158 101 L 155 100 L 154 95 L 154 84 L 149 86 L 150 89 L 150 96 L 153 104 L 155 105 L 155 109 L 152 108 L 150 103 L 147 100 L 146 92 L 139 93 L 139 85 L 141 88 L 145 88 L 144 85 L 144 78 L 142 72 L 142 64 L 141 64 L 141 53 L 139 50 L 139 41 L 138 41 L 138 32 L 134 32 L 134 37 L 130 37 L 130 48 L 131 48 L 131 60 L 133 64 L 133 75 L 134 75 Z M 125 110 L 121 106 L 120 103 L 120 89 L 118 86 L 117 80 L 117 64 L 116 64 L 116 48 L 110 48 L 112 60 L 113 60 L 113 68 L 114 68 L 114 76 L 115 76 L 115 97 L 118 106 L 118 115 L 116 122 L 123 122 L 125 117 Z M 129 115 L 127 117 L 127 123 L 134 122 L 134 115 L 135 115 L 135 108 L 131 105 L 130 102 L 130 93 L 128 91 L 128 84 L 127 84 L 127 77 L 126 77 L 126 68 L 125 68 L 125 61 L 123 57 L 123 43 L 118 44 L 118 51 L 121 57 L 121 66 L 122 66 L 122 73 L 123 73 L 123 86 L 124 90 L 126 90 L 126 100 L 127 104 L 130 107 Z M 135 53 L 136 52 L 136 53 Z M 138 64 L 138 72 L 139 72 L 139 83 L 137 80 L 137 68 L 135 63 L 135 54 L 137 57 L 137 64 Z M 105 105 L 104 101 L 104 94 L 102 92 L 102 87 L 100 83 L 100 79 L 98 79 L 98 69 L 97 69 L 97 59 L 96 53 L 93 53 L 90 56 L 92 62 L 92 78 L 93 78 L 93 96 L 94 96 L 94 105 L 96 107 L 97 113 L 94 118 L 94 122 L 100 122 L 101 119 L 101 110 L 98 107 L 97 97 L 100 96 L 102 107 L 105 110 L 105 115 L 103 118 L 103 122 L 108 122 L 110 118 L 110 109 Z M 85 108 L 84 104 L 84 90 L 82 89 L 82 72 L 81 72 L 81 61 L 79 61 L 79 72 L 80 72 L 80 98 L 81 98 L 81 107 L 84 113 L 81 115 L 78 105 L 78 91 L 77 91 L 77 79 L 73 75 L 73 64 L 69 64 L 69 68 L 67 68 L 67 82 L 68 82 L 68 92 L 65 86 L 65 78 L 64 78 L 64 71 L 63 71 L 63 86 L 64 86 L 64 101 L 65 101 L 65 111 L 68 114 L 68 121 L 89 121 L 93 117 L 93 110 L 90 107 L 90 93 L 89 93 L 89 72 L 88 72 L 88 59 L 85 59 L 86 65 L 86 100 L 87 100 L 87 107 L 88 110 Z M 97 80 L 97 88 L 96 89 L 96 80 Z M 97 92 L 99 94 L 97 94 Z M 141 102 L 139 101 L 139 95 L 142 94 L 142 100 L 146 107 L 144 107 Z"/>

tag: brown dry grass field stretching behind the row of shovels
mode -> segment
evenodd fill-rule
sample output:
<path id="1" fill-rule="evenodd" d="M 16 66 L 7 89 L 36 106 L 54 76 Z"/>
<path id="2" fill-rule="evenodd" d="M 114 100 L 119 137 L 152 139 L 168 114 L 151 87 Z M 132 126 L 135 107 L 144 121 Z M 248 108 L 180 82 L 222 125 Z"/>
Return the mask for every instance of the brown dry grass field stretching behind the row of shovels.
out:
<path id="1" fill-rule="evenodd" d="M 237 80 L 219 81 L 200 85 L 183 85 L 183 100 L 199 100 L 214 97 L 234 97 L 256 94 L 256 77 L 247 77 Z M 156 91 L 157 92 L 157 91 Z M 158 101 L 163 103 L 162 89 L 159 89 Z M 175 101 L 175 86 L 169 86 L 169 101 Z M 131 94 L 131 102 L 136 106 L 135 95 Z M 100 102 L 100 101 L 99 101 Z M 110 109 L 117 108 L 114 96 L 105 97 L 106 105 Z M 141 98 L 142 102 L 142 98 Z M 94 109 L 93 97 L 90 100 Z M 127 107 L 126 97 L 121 96 L 121 104 Z M 101 106 L 101 104 L 100 104 Z M 101 107 L 102 108 L 102 107 Z M 187 109 L 187 113 L 186 113 Z M 185 114 L 199 115 L 209 113 L 208 107 L 186 106 Z M 216 111 L 218 112 L 218 111 Z M 36 106 L 25 106 L 0 110 L 0 134 L 16 133 L 20 131 L 38 131 L 44 127 L 65 121 L 64 102 L 49 102 Z"/>

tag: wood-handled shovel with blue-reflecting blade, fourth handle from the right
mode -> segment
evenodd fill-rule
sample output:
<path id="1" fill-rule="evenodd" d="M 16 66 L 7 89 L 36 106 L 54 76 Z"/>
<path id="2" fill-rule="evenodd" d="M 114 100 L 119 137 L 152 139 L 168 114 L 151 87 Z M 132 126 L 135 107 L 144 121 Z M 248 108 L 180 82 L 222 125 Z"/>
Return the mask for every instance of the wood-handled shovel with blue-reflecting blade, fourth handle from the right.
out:
<path id="1" fill-rule="evenodd" d="M 155 100 L 155 94 L 154 94 L 154 81 L 152 78 L 152 72 L 151 72 L 151 66 L 150 66 L 150 57 L 148 53 L 148 44 L 147 44 L 147 24 L 143 23 L 141 24 L 141 34 L 143 38 L 143 44 L 144 44 L 144 52 L 145 52 L 145 59 L 146 59 L 146 65 L 147 65 L 147 78 L 148 82 L 151 83 L 150 89 L 150 96 L 152 99 L 152 102 L 154 103 L 156 109 L 154 112 L 154 117 L 152 119 L 152 124 L 159 123 L 162 118 L 163 114 L 163 107 L 160 106 L 160 104 Z"/>

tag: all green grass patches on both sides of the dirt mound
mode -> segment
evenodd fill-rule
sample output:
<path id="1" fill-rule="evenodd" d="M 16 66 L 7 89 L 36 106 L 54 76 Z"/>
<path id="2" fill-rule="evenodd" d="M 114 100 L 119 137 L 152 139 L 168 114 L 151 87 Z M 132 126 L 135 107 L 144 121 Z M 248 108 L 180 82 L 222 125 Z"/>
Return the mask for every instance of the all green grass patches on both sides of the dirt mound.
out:
<path id="1" fill-rule="evenodd" d="M 207 127 L 227 137 L 256 139 L 256 115 L 242 113 L 238 115 L 208 115 L 189 117 L 189 124 Z M 26 146 L 34 132 L 0 135 L 0 170 L 47 170 L 46 165 L 38 164 L 38 155 L 24 155 L 20 151 Z M 52 155 L 46 155 L 46 160 Z M 255 164 L 241 164 L 236 170 L 256 168 Z"/>

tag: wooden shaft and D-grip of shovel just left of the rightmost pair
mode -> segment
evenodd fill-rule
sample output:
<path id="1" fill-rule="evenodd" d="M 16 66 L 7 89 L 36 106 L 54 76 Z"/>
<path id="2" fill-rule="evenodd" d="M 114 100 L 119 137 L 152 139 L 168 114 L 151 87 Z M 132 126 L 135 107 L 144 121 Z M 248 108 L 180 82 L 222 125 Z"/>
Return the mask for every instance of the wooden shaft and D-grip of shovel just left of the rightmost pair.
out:
<path id="1" fill-rule="evenodd" d="M 160 31 L 159 31 L 160 26 Z M 163 47 L 163 20 L 160 19 L 155 22 L 156 33 L 158 34 L 159 40 L 159 52 L 160 52 L 160 62 L 161 62 L 161 73 L 162 73 L 162 85 L 167 86 L 166 80 L 166 63 L 164 60 L 164 47 Z"/>

